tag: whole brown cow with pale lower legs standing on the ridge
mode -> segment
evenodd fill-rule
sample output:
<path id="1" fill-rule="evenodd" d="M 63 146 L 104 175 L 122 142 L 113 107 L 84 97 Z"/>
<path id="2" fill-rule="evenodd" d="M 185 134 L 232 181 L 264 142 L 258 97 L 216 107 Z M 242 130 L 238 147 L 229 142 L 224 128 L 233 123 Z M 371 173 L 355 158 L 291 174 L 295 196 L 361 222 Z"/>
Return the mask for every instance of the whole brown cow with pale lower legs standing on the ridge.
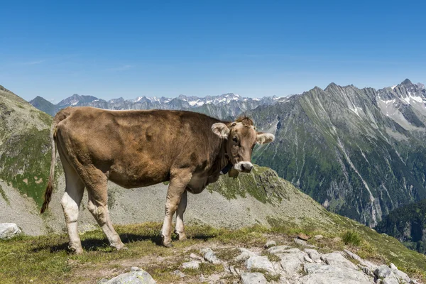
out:
<path id="1" fill-rule="evenodd" d="M 178 239 L 186 239 L 187 192 L 202 192 L 229 168 L 234 175 L 249 173 L 256 143 L 273 139 L 271 133 L 257 132 L 248 117 L 220 121 L 191 111 L 67 107 L 53 119 L 50 176 L 40 212 L 45 212 L 51 200 L 58 151 L 65 173 L 60 203 L 70 251 L 83 251 L 77 219 L 84 188 L 89 197 L 87 208 L 109 244 L 125 249 L 109 219 L 108 180 L 125 188 L 170 182 L 161 229 L 163 246 L 170 246 L 175 213 Z"/>

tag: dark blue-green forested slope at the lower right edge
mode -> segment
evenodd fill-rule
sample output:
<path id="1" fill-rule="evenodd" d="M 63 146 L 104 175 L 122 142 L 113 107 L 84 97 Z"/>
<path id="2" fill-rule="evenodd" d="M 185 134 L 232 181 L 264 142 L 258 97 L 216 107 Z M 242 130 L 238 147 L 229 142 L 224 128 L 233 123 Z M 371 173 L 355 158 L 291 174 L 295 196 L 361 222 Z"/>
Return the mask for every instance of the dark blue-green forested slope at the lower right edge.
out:
<path id="1" fill-rule="evenodd" d="M 426 200 L 393 210 L 375 229 L 395 237 L 409 249 L 426 253 Z"/>

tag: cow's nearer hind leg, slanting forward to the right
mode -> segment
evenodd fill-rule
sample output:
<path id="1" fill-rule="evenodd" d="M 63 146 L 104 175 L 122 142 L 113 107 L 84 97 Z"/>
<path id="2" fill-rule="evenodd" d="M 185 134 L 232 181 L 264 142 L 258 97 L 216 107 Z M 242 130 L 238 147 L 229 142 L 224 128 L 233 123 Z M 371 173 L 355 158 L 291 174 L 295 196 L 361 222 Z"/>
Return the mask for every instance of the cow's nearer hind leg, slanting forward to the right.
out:
<path id="1" fill-rule="evenodd" d="M 90 175 L 86 187 L 89 195 L 87 208 L 107 236 L 109 245 L 114 246 L 117 250 L 125 249 L 119 234 L 116 233 L 111 219 L 109 219 L 107 176 L 101 170 L 95 170 L 95 173 Z"/>

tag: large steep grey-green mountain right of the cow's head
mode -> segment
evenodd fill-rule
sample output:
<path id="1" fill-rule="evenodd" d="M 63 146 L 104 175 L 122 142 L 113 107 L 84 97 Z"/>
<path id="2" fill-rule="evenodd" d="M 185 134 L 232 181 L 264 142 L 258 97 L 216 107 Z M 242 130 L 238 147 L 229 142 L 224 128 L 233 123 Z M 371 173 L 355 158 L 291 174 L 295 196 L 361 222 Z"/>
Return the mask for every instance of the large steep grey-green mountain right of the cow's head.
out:
<path id="1" fill-rule="evenodd" d="M 254 161 L 333 212 L 375 226 L 426 197 L 426 89 L 329 84 L 247 114 L 275 142 Z"/>

